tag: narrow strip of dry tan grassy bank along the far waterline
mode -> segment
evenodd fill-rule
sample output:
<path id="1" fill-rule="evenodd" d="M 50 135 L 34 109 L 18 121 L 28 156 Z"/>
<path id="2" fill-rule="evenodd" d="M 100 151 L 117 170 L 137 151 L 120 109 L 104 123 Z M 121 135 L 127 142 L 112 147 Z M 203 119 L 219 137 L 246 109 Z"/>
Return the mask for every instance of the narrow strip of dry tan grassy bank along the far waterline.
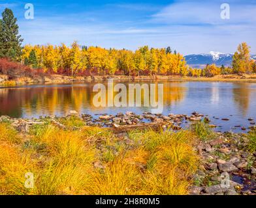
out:
<path id="1" fill-rule="evenodd" d="M 20 77 L 10 80 L 7 75 L 0 75 L 0 86 L 22 86 L 37 84 L 63 84 L 78 83 L 88 81 L 209 81 L 209 82 L 242 82 L 256 83 L 256 74 L 243 75 L 217 75 L 214 77 L 182 77 L 179 75 L 155 75 L 155 76 L 125 76 L 125 75 L 106 75 L 106 76 L 78 76 L 71 77 L 67 75 L 46 75 L 45 77 Z"/>

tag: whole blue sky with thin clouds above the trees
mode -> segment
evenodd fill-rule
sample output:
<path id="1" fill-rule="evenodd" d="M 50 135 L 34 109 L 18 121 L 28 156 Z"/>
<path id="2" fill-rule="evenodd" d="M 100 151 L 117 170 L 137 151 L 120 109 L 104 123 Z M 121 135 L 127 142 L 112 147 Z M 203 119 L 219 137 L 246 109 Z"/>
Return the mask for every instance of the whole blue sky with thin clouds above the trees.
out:
<path id="1" fill-rule="evenodd" d="M 35 19 L 25 19 L 32 3 Z M 229 3 L 231 18 L 221 19 Z M 176 49 L 184 55 L 234 53 L 248 42 L 256 54 L 256 0 L 158 1 L 1 1 L 18 18 L 24 44 L 99 45 L 136 49 L 142 45 Z"/>

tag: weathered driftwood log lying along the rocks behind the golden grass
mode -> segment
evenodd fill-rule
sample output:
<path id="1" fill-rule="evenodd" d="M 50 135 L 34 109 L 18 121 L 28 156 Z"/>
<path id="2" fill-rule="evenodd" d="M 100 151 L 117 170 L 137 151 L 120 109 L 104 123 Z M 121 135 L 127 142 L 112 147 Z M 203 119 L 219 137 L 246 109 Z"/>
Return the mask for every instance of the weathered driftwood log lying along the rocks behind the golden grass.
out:
<path id="1" fill-rule="evenodd" d="M 165 130 L 167 127 L 170 127 L 174 130 L 180 130 L 181 127 L 173 125 L 172 123 L 168 122 L 161 122 L 161 123 L 140 123 L 137 125 L 120 125 L 117 127 L 108 127 L 106 129 L 114 132 L 115 134 L 126 133 L 128 131 L 135 131 L 135 130 L 146 130 L 152 129 L 153 131 L 160 131 Z"/>

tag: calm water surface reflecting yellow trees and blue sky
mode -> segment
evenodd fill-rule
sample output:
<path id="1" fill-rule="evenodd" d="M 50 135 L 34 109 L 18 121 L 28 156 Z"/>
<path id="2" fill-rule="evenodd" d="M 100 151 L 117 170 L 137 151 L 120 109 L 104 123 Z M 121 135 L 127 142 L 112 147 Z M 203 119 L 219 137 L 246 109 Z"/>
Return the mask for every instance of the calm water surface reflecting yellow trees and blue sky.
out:
<path id="1" fill-rule="evenodd" d="M 149 83 L 150 82 L 142 82 Z M 140 84 L 142 84 L 140 83 Z M 163 114 L 208 114 L 221 131 L 241 131 L 235 125 L 251 126 L 248 118 L 256 120 L 256 83 L 210 83 L 158 81 L 164 84 Z M 93 86 L 96 83 L 69 85 L 35 85 L 0 88 L 0 115 L 32 118 L 65 116 L 69 110 L 80 114 L 117 114 L 146 112 L 147 107 L 94 107 Z M 125 83 L 128 85 L 129 83 Z M 104 83 L 106 85 L 106 83 Z M 216 120 L 213 118 L 220 118 Z M 225 122 L 221 118 L 229 118 Z"/>

